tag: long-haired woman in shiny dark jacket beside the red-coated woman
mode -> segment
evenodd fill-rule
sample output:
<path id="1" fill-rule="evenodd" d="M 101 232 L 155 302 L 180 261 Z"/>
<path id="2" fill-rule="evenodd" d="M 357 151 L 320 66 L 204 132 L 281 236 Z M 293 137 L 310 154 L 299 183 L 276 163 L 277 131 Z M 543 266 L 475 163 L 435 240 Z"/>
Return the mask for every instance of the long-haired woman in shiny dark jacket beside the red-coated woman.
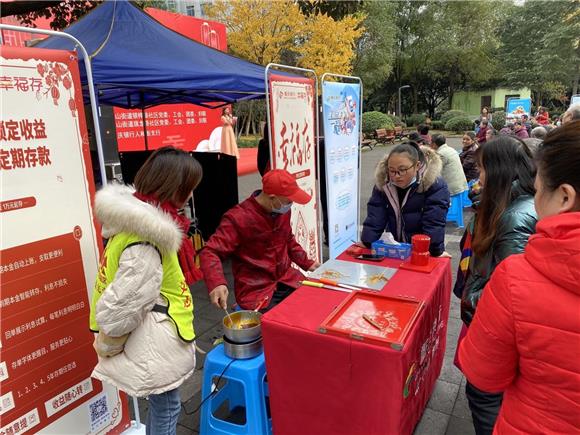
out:
<path id="1" fill-rule="evenodd" d="M 535 232 L 534 177 L 536 169 L 527 145 L 514 136 L 497 136 L 477 151 L 480 203 L 472 232 L 471 257 L 462 258 L 454 293 L 461 293 L 461 319 L 469 327 L 483 289 L 497 265 L 520 254 Z M 465 243 L 465 237 L 462 240 Z M 459 283 L 458 283 L 459 284 Z M 461 288 L 462 287 L 462 288 Z M 466 396 L 477 435 L 491 435 L 502 395 L 478 390 L 467 382 Z"/>

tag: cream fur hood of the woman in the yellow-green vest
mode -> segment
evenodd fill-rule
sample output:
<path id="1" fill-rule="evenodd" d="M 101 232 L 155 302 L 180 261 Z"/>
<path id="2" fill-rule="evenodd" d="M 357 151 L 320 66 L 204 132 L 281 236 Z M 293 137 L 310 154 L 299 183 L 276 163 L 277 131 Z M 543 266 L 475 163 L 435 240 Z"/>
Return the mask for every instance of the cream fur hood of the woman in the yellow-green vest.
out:
<path id="1" fill-rule="evenodd" d="M 103 237 L 136 234 L 163 253 L 179 250 L 183 234 L 173 218 L 133 196 L 131 186 L 108 184 L 95 196 L 95 214 L 103 225 Z"/>

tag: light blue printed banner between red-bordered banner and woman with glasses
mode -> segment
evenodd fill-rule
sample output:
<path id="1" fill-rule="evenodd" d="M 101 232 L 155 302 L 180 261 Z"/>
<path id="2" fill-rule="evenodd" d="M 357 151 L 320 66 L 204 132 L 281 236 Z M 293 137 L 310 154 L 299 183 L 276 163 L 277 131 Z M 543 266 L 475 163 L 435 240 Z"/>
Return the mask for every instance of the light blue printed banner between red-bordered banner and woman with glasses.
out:
<path id="1" fill-rule="evenodd" d="M 329 257 L 334 259 L 353 240 L 358 240 L 362 81 L 359 77 L 326 73 L 321 82 L 328 220 L 326 236 Z"/>

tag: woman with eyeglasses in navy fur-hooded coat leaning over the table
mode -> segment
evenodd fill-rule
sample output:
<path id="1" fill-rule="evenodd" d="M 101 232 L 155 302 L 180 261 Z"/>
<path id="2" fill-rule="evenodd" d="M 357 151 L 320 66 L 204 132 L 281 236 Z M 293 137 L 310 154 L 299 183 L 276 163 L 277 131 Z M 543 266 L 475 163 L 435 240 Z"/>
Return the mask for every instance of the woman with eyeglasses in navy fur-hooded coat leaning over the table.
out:
<path id="1" fill-rule="evenodd" d="M 378 164 L 375 186 L 367 204 L 361 240 L 366 246 L 384 231 L 396 241 L 410 243 L 414 234 L 431 237 L 429 251 L 445 253 L 445 221 L 449 189 L 441 178 L 441 159 L 416 142 L 397 145 Z"/>

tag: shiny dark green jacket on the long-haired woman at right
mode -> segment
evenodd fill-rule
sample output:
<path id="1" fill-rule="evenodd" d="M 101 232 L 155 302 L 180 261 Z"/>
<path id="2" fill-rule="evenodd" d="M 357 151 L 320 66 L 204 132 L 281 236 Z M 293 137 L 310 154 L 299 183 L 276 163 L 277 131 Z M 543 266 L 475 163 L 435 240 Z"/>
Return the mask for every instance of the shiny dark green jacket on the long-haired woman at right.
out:
<path id="1" fill-rule="evenodd" d="M 471 257 L 461 298 L 461 319 L 466 325 L 471 323 L 483 288 L 497 265 L 512 254 L 524 252 L 528 238 L 536 230 L 536 221 L 533 196 L 517 196 L 501 216 L 495 239 L 487 253 L 482 257 L 475 254 Z"/>

